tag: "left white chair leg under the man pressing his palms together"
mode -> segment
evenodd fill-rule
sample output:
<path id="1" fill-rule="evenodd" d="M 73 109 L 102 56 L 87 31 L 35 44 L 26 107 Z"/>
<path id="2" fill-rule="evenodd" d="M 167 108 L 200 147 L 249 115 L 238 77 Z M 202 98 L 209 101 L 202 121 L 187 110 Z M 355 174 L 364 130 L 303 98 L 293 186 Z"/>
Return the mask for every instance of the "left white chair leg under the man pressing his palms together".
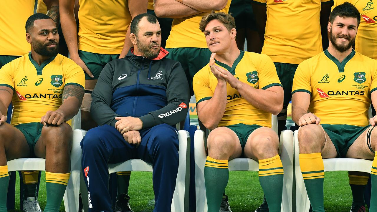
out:
<path id="1" fill-rule="evenodd" d="M 207 196 L 204 183 L 204 164 L 207 154 L 204 149 L 204 132 L 195 131 L 195 197 L 196 211 L 207 212 Z"/>

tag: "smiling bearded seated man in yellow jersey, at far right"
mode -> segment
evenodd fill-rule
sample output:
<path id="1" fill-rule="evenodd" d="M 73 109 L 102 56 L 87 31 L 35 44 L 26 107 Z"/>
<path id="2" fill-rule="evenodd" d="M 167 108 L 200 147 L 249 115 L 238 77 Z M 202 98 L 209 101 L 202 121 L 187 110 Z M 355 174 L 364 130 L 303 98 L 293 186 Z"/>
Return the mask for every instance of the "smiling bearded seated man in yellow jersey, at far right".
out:
<path id="1" fill-rule="evenodd" d="M 377 117 L 368 125 L 369 106 L 377 105 L 377 61 L 352 49 L 359 24 L 351 3 L 336 6 L 328 23 L 329 47 L 303 61 L 293 80 L 292 118 L 302 126 L 299 162 L 313 212 L 325 211 L 322 158 L 374 158 L 371 199 L 377 198 Z M 369 211 L 377 211 L 376 201 Z"/>

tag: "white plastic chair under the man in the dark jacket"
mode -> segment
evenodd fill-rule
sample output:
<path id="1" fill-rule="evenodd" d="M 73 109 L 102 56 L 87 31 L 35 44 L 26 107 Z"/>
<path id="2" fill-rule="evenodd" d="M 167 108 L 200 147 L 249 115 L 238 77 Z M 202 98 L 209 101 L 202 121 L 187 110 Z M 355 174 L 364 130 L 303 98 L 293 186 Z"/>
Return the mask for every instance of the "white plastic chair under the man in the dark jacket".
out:
<path id="1" fill-rule="evenodd" d="M 179 139 L 179 163 L 178 174 L 172 201 L 172 212 L 189 211 L 189 183 L 190 183 L 190 134 L 187 131 L 178 131 Z M 81 141 L 81 140 L 80 140 Z M 131 159 L 122 163 L 109 164 L 109 174 L 124 171 L 152 172 L 152 164 L 141 159 Z M 81 173 L 82 174 L 82 173 Z M 87 197 L 87 188 L 83 177 L 80 180 L 81 196 Z M 83 194 L 83 191 L 85 194 Z M 84 211 L 87 211 L 87 198 L 83 199 Z M 77 210 L 76 210 L 77 211 Z"/>

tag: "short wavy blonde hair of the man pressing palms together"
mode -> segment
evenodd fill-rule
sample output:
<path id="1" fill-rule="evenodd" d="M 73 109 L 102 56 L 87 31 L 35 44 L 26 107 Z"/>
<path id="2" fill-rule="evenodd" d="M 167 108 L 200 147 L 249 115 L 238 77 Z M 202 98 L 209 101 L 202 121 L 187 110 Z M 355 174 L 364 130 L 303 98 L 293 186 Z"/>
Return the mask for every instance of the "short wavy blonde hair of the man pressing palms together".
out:
<path id="1" fill-rule="evenodd" d="M 204 32 L 205 27 L 211 20 L 219 20 L 224 26 L 230 31 L 233 28 L 236 28 L 236 23 L 234 23 L 234 18 L 230 14 L 226 14 L 225 12 L 215 12 L 212 11 L 211 13 L 205 14 L 200 20 L 199 29 Z"/>

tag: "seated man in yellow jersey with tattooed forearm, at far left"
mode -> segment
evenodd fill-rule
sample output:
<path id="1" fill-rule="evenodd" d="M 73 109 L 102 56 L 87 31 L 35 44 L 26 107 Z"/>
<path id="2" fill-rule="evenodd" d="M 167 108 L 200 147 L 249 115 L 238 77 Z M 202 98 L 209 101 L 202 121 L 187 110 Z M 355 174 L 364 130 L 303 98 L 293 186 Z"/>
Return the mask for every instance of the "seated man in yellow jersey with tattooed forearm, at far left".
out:
<path id="1" fill-rule="evenodd" d="M 70 175 L 72 128 L 65 121 L 80 108 L 84 74 L 57 54 L 59 35 L 49 16 L 31 15 L 25 28 L 31 52 L 0 69 L 0 212 L 7 211 L 7 161 L 23 157 L 46 158 L 44 211 L 58 212 Z M 5 123 L 11 101 L 12 125 Z"/>

